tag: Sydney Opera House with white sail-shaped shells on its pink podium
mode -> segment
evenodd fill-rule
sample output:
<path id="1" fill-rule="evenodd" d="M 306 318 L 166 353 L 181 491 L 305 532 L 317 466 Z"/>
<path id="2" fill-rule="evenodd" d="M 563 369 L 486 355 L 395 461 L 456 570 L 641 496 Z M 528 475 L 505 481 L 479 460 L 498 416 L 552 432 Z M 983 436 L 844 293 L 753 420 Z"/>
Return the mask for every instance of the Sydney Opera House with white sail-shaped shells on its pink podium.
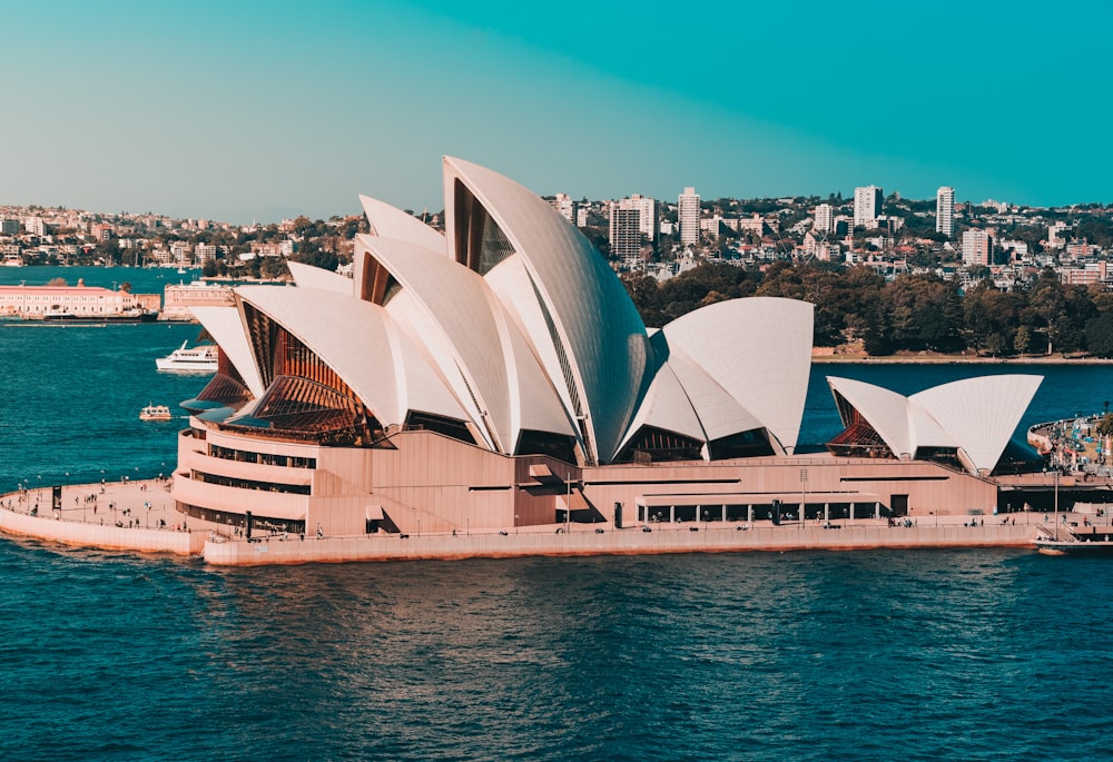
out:
<path id="1" fill-rule="evenodd" d="M 219 372 L 179 434 L 179 511 L 327 536 L 989 513 L 1038 386 L 905 397 L 830 378 L 797 452 L 812 306 L 747 298 L 647 329 L 543 199 L 443 160 L 445 230 L 363 198 L 354 277 L 292 264 L 196 310 Z"/>

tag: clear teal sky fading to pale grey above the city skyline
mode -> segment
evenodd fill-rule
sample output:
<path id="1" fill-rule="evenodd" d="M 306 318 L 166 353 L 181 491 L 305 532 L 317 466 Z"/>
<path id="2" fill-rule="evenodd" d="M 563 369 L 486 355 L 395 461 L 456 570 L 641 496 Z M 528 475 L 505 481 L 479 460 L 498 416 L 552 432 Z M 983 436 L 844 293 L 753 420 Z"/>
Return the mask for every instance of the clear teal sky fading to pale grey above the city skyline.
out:
<path id="1" fill-rule="evenodd" d="M 244 222 L 543 195 L 1113 201 L 1113 2 L 43 0 L 0 204 Z"/>

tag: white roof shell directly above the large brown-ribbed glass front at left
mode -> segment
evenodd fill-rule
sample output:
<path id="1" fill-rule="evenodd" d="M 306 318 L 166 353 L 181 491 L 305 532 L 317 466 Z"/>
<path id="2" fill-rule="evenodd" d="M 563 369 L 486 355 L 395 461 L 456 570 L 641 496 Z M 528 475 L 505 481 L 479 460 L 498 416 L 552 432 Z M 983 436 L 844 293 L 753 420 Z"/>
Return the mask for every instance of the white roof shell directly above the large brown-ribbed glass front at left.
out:
<path id="1" fill-rule="evenodd" d="M 407 339 L 381 307 L 314 288 L 242 286 L 236 293 L 311 347 L 384 426 L 405 423 L 411 409 L 464 419 L 433 368 L 405 346 Z M 415 390 L 422 398 L 414 399 Z"/>

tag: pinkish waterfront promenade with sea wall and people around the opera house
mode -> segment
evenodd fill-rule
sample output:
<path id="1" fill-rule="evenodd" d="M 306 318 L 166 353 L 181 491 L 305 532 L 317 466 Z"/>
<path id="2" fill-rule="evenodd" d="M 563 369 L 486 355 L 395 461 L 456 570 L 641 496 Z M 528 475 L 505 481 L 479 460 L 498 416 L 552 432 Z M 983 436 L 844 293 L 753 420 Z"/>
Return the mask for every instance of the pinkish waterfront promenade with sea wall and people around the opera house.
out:
<path id="1" fill-rule="evenodd" d="M 76 547 L 198 556 L 216 565 L 266 565 L 421 558 L 637 555 L 743 551 L 850 551 L 868 548 L 1031 547 L 1037 526 L 1054 521 L 1038 512 L 998 516 L 929 516 L 890 524 L 885 518 L 821 523 L 698 522 L 614 528 L 609 524 L 506 527 L 485 533 L 359 536 L 256 535 L 252 542 L 227 525 L 187 518 L 174 508 L 169 482 L 122 481 L 62 487 L 51 509 L 51 488 L 0 495 L 0 532 Z M 1082 514 L 1061 521 L 1102 522 Z"/>

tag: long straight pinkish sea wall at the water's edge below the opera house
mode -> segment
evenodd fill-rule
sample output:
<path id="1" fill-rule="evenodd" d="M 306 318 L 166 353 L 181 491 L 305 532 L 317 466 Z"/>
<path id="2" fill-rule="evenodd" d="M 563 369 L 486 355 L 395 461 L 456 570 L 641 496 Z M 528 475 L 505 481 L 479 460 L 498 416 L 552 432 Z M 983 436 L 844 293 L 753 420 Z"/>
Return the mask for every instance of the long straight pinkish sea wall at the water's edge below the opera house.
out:
<path id="1" fill-rule="evenodd" d="M 691 527 L 535 532 L 472 535 L 377 535 L 371 537 L 296 537 L 263 542 L 209 541 L 205 561 L 217 565 L 342 563 L 351 561 L 405 561 L 420 558 L 505 558 L 520 556 L 636 555 L 651 553 L 727 553 L 742 551 L 856 551 L 868 548 L 1027 547 L 1034 525 L 887 527 L 821 526 L 762 527 L 740 531 Z"/>

